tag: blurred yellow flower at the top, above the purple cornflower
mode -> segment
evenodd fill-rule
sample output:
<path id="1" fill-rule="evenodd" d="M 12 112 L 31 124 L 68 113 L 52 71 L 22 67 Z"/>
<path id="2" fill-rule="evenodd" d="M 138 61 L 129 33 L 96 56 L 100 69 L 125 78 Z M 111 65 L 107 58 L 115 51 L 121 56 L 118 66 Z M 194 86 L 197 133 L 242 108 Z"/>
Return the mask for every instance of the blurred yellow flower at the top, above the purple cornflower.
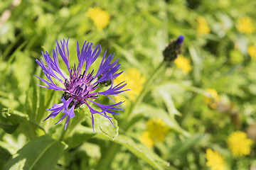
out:
<path id="1" fill-rule="evenodd" d="M 85 13 L 85 16 L 89 17 L 95 26 L 97 27 L 97 30 L 102 31 L 103 28 L 106 28 L 107 25 L 110 23 L 110 15 L 107 13 L 107 11 L 104 11 L 100 8 L 88 8 L 87 13 Z"/>

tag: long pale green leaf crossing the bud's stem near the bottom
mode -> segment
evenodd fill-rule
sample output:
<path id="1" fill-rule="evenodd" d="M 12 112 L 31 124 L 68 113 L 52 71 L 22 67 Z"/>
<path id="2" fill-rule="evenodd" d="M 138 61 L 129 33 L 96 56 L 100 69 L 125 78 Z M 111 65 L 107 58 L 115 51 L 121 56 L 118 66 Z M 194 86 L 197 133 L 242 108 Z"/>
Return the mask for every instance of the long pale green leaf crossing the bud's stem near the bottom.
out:
<path id="1" fill-rule="evenodd" d="M 100 138 L 102 140 L 110 140 L 112 139 L 110 137 L 107 137 L 103 134 L 97 134 L 95 137 Z M 142 144 L 134 142 L 132 138 L 124 136 L 124 135 L 118 135 L 113 142 L 118 143 L 119 145 L 122 145 L 124 147 L 127 147 L 130 152 L 135 154 L 140 159 L 143 159 L 145 162 L 153 166 L 155 169 L 167 169 L 169 166 L 169 162 L 164 161 L 164 159 L 161 159 L 157 154 L 155 154 L 151 149 L 145 147 Z"/>

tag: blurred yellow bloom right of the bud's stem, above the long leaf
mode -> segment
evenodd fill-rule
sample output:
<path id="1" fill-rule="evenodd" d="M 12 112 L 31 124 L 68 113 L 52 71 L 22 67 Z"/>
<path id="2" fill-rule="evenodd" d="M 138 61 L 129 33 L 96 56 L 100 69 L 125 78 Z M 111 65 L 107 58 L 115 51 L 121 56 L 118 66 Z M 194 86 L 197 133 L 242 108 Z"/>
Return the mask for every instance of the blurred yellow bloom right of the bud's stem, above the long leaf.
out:
<path id="1" fill-rule="evenodd" d="M 164 142 L 164 137 L 169 131 L 161 118 L 153 118 L 147 121 L 146 131 L 142 133 L 139 140 L 146 145 L 146 147 L 153 147 L 156 142 Z"/>

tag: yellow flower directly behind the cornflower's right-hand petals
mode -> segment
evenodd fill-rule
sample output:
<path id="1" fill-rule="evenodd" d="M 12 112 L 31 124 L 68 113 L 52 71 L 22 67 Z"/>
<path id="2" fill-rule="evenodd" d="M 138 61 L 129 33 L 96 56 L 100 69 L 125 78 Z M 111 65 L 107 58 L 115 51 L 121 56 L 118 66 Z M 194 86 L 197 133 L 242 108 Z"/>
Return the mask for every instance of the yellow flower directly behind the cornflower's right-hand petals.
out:
<path id="1" fill-rule="evenodd" d="M 119 77 L 114 79 L 115 84 L 119 84 L 122 81 L 125 81 L 127 83 L 127 86 L 125 86 L 125 88 L 130 89 L 129 91 L 127 91 L 128 98 L 130 98 L 131 101 L 135 101 L 135 99 L 143 89 L 146 77 L 144 77 L 139 69 L 127 69 L 126 72 L 122 73 Z"/>

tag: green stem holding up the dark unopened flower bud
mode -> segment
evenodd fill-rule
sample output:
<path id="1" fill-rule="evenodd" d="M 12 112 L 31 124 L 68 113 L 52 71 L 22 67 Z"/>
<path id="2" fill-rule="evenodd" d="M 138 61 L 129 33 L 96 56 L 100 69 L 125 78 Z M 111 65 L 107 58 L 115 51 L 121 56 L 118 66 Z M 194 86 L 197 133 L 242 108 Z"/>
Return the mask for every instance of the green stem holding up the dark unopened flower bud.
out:
<path id="1" fill-rule="evenodd" d="M 124 114 L 124 119 L 120 123 L 120 128 L 122 128 L 124 131 L 129 128 L 129 125 L 127 121 L 131 119 L 132 112 L 134 111 L 134 108 L 137 106 L 138 103 L 140 103 L 146 94 L 147 87 L 154 81 L 156 78 L 157 73 L 159 72 L 159 69 L 165 64 L 165 62 L 161 62 L 158 67 L 156 67 L 155 71 L 150 75 L 149 79 L 144 84 L 144 88 L 140 92 L 139 96 L 137 97 L 136 101 L 132 103 L 132 105 L 129 107 L 129 110 Z M 128 82 L 129 83 L 129 82 Z M 108 169 L 110 166 L 110 163 L 113 161 L 115 154 L 120 150 L 121 145 L 118 145 L 114 142 L 110 143 L 109 149 L 107 149 L 107 152 L 105 152 L 102 155 L 102 159 L 100 159 L 100 162 L 97 164 L 96 169 L 98 170 L 104 170 Z"/>

